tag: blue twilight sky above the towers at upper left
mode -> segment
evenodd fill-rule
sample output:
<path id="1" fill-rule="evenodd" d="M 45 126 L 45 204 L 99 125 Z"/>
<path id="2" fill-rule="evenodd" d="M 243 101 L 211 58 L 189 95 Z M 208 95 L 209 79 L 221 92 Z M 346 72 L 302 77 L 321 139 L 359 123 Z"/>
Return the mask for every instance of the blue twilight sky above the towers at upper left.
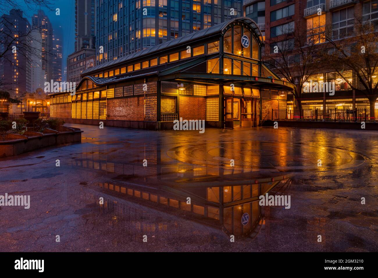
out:
<path id="1" fill-rule="evenodd" d="M 23 16 L 26 17 L 31 23 L 31 17 L 33 14 L 37 13 L 39 6 L 28 6 L 23 0 L 15 0 L 13 2 L 17 3 L 19 8 L 24 12 Z M 62 74 L 64 75 L 64 68 L 67 65 L 67 56 L 75 49 L 75 0 L 47 0 L 47 2 L 51 3 L 51 10 L 45 7 L 41 7 L 41 9 L 50 19 L 53 29 L 58 28 L 59 26 L 62 27 Z M 60 16 L 56 15 L 56 8 L 60 9 Z M 9 10 L 9 7 L 7 7 L 8 14 Z M 2 11 L 4 11 L 4 6 Z M 62 80 L 66 80 L 65 76 L 62 76 Z"/>

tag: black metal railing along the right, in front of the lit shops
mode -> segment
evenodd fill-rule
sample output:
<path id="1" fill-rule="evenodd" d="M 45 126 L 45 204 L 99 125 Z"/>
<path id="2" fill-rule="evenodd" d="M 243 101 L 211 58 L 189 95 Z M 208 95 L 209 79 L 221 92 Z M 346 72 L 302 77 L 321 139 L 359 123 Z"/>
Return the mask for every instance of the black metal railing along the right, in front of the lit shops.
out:
<path id="1" fill-rule="evenodd" d="M 370 115 L 369 108 L 355 109 L 272 109 L 271 120 L 285 121 L 334 121 L 334 122 L 373 122 L 378 120 L 378 109 Z M 372 116 L 372 117 L 370 117 Z"/>

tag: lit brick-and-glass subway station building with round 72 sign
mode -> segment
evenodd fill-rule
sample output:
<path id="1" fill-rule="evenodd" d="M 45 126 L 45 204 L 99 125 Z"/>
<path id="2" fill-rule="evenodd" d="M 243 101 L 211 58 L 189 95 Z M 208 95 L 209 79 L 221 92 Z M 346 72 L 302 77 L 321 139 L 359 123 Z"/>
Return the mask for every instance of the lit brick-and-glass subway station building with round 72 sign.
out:
<path id="1" fill-rule="evenodd" d="M 54 93 L 50 116 L 67 123 L 172 129 L 174 120 L 254 127 L 287 106 L 282 81 L 261 61 L 253 20 L 231 19 L 82 73 L 76 94 Z"/>

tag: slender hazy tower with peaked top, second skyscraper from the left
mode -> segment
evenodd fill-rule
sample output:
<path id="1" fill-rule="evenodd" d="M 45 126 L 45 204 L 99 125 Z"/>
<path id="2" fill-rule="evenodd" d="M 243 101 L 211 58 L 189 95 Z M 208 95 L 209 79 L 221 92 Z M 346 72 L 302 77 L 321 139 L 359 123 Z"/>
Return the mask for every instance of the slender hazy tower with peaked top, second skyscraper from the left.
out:
<path id="1" fill-rule="evenodd" d="M 42 69 L 47 80 L 53 79 L 53 26 L 45 12 L 39 10 L 33 15 L 33 28 L 38 28 L 42 36 Z"/>

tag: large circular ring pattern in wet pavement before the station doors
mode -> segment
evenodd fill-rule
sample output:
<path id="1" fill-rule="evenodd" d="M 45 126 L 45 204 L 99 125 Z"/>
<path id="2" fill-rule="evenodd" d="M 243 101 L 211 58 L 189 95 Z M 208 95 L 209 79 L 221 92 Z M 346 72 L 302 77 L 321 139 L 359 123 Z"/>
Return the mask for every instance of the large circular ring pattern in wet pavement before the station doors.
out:
<path id="1" fill-rule="evenodd" d="M 356 167 L 365 158 L 349 150 L 266 141 L 198 142 L 167 151 L 175 160 L 195 165 L 269 172 L 330 171 Z"/>

